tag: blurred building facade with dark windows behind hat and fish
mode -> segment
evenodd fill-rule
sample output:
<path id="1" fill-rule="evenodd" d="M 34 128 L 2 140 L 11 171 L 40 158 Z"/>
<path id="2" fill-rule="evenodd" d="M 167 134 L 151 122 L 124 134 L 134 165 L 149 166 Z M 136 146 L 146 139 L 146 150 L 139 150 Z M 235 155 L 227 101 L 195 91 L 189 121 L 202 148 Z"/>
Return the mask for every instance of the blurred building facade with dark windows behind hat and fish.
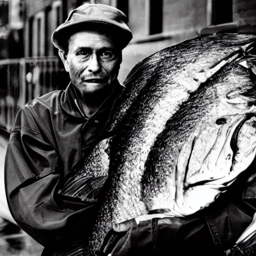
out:
<path id="1" fill-rule="evenodd" d="M 25 0 L 25 56 L 57 55 L 51 33 L 84 2 L 114 6 L 129 18 L 133 39 L 123 51 L 120 81 L 144 57 L 194 37 L 202 28 L 211 26 L 209 32 L 215 31 L 212 26 L 224 31 L 256 30 L 255 0 Z"/>

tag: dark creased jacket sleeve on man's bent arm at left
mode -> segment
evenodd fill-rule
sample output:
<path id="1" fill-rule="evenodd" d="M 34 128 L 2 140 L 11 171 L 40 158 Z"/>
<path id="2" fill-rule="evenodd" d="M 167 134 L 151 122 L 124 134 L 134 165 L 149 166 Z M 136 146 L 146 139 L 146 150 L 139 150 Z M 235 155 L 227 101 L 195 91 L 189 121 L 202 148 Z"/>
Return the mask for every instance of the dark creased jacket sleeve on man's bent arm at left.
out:
<path id="1" fill-rule="evenodd" d="M 56 149 L 44 140 L 30 111 L 21 109 L 5 157 L 8 206 L 24 231 L 53 248 L 86 239 L 96 212 L 95 203 L 57 193 L 62 178 L 58 161 Z"/>

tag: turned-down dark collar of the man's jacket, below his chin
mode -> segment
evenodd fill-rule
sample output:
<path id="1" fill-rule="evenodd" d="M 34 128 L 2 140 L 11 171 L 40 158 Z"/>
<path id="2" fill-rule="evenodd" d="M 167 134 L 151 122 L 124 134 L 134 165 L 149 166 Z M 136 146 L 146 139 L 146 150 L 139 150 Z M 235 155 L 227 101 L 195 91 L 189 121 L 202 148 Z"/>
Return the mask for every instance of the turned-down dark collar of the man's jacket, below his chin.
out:
<path id="1" fill-rule="evenodd" d="M 121 85 L 118 80 L 116 80 L 115 83 L 113 92 L 105 99 L 97 112 L 109 104 L 112 105 L 116 101 L 115 99 L 117 99 L 124 91 L 125 87 Z M 60 97 L 60 105 L 68 114 L 75 117 L 86 118 L 80 108 L 81 104 L 76 96 L 74 85 L 71 82 L 67 85 Z"/>

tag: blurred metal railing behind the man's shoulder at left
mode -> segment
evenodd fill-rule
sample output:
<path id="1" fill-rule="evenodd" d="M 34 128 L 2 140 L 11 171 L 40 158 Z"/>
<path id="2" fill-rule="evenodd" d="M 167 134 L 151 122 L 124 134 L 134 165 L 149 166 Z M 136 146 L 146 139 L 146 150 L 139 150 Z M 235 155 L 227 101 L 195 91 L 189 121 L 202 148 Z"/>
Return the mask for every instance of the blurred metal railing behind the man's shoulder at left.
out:
<path id="1" fill-rule="evenodd" d="M 17 111 L 26 102 L 64 89 L 68 81 L 57 56 L 0 60 L 0 126 L 10 131 Z"/>

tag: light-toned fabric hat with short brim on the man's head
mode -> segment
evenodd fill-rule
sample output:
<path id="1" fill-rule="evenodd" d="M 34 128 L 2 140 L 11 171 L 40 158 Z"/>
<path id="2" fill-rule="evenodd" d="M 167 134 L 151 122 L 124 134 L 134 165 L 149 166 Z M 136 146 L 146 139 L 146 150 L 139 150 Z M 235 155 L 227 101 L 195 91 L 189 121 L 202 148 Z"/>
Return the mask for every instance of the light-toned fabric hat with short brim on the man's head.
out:
<path id="1" fill-rule="evenodd" d="M 86 31 L 91 25 L 100 24 L 107 31 L 116 32 L 121 48 L 124 48 L 132 38 L 127 25 L 128 18 L 120 10 L 105 4 L 84 3 L 72 10 L 64 23 L 52 33 L 51 40 L 55 47 L 64 49 L 63 44 L 74 31 Z"/>

